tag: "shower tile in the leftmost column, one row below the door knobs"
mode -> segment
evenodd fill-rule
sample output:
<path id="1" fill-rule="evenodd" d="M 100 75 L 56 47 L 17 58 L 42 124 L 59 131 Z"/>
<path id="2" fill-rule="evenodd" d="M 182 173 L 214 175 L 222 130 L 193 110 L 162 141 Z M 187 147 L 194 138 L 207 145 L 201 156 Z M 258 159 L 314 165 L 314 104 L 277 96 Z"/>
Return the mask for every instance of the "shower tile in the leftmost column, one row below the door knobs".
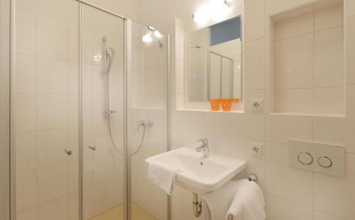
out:
<path id="1" fill-rule="evenodd" d="M 16 210 L 31 209 L 37 205 L 37 171 L 29 170 L 16 175 Z"/>

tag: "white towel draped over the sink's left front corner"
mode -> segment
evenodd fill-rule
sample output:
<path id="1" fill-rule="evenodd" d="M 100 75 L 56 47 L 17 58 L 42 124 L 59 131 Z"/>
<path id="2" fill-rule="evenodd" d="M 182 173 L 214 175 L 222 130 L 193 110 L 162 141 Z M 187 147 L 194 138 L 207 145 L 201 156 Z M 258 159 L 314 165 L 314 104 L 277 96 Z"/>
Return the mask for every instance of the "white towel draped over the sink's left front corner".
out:
<path id="1" fill-rule="evenodd" d="M 152 161 L 148 165 L 148 179 L 155 183 L 155 185 L 158 185 L 168 195 L 171 195 L 171 192 L 173 192 L 174 180 L 179 172 L 181 170 L 159 161 Z"/>

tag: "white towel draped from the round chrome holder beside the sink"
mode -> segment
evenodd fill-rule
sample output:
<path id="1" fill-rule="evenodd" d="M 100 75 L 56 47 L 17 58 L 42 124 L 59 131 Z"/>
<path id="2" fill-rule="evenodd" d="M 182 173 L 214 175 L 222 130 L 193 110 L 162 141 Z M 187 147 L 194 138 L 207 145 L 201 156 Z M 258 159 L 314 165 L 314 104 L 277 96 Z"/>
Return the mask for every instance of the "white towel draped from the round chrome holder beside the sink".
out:
<path id="1" fill-rule="evenodd" d="M 249 182 L 236 192 L 224 219 L 264 220 L 266 219 L 264 206 L 263 192 L 256 183 Z"/>

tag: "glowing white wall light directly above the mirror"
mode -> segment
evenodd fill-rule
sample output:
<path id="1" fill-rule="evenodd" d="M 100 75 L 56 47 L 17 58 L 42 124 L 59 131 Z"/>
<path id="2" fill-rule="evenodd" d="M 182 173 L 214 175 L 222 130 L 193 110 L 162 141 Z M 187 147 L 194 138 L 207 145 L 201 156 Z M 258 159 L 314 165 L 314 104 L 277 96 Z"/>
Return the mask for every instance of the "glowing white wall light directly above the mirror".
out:
<path id="1" fill-rule="evenodd" d="M 212 0 L 194 13 L 192 18 L 197 24 L 204 25 L 211 18 L 215 20 L 223 18 L 229 13 L 230 9 L 230 1 Z"/>

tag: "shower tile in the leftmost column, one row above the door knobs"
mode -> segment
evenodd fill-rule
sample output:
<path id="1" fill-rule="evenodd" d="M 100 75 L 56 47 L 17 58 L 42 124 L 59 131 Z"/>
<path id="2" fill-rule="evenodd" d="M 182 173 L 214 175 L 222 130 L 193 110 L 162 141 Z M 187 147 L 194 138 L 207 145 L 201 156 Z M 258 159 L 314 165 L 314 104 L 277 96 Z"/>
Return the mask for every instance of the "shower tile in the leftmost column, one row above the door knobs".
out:
<path id="1" fill-rule="evenodd" d="M 37 129 L 37 100 L 32 94 L 16 94 L 16 131 L 31 132 Z"/>

